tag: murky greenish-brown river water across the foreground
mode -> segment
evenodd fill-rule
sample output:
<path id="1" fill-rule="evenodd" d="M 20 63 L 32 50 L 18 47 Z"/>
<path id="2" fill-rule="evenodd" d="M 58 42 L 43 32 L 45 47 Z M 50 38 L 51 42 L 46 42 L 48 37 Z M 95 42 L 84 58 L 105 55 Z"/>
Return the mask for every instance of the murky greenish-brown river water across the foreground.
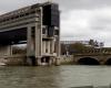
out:
<path id="1" fill-rule="evenodd" d="M 110 86 L 110 66 L 0 67 L 0 88 Z"/>

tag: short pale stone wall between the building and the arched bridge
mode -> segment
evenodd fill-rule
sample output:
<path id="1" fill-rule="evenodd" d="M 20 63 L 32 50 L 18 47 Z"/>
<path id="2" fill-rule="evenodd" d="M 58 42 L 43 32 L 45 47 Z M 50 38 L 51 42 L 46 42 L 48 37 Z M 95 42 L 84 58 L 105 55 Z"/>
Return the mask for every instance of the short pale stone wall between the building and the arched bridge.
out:
<path id="1" fill-rule="evenodd" d="M 73 62 L 73 55 L 69 55 L 69 56 L 62 55 L 60 57 L 60 63 L 61 63 L 61 65 L 67 65 L 67 64 L 71 65 L 71 64 L 74 64 L 74 62 Z"/>

